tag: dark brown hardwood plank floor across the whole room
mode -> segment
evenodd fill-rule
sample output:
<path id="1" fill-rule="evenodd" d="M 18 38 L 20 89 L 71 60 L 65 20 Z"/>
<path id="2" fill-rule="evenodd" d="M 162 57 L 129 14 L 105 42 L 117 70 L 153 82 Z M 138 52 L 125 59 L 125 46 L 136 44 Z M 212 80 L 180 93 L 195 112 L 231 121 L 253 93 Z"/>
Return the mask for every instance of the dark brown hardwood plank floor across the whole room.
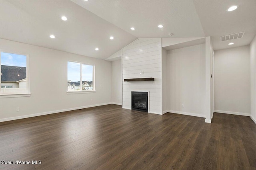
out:
<path id="1" fill-rule="evenodd" d="M 246 116 L 155 115 L 106 105 L 3 122 L 0 169 L 256 170 L 256 124 Z M 16 160 L 41 164 L 15 164 Z"/>

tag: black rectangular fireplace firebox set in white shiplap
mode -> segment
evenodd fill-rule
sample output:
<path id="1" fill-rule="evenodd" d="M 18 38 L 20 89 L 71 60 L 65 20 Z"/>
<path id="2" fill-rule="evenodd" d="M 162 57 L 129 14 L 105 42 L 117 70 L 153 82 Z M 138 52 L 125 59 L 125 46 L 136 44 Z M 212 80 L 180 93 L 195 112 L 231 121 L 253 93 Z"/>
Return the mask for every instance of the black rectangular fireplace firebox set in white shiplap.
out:
<path id="1" fill-rule="evenodd" d="M 132 110 L 148 112 L 148 92 L 132 92 Z"/>

